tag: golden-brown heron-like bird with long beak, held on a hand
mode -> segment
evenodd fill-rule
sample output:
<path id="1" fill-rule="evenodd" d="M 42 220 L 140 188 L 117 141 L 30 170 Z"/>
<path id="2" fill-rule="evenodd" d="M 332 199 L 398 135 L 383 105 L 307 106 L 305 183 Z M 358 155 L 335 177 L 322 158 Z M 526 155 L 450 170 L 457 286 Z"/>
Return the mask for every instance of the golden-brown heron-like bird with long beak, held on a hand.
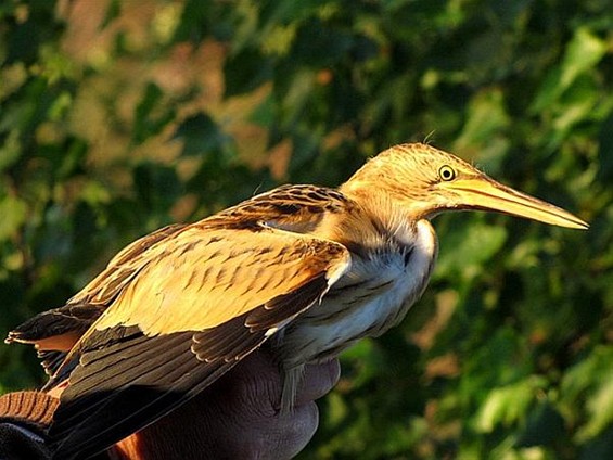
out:
<path id="1" fill-rule="evenodd" d="M 10 332 L 63 386 L 54 458 L 155 422 L 265 343 L 291 410 L 306 363 L 397 325 L 438 253 L 431 219 L 489 210 L 587 229 L 425 143 L 392 146 L 339 188 L 281 186 L 137 240 L 60 308 Z"/>

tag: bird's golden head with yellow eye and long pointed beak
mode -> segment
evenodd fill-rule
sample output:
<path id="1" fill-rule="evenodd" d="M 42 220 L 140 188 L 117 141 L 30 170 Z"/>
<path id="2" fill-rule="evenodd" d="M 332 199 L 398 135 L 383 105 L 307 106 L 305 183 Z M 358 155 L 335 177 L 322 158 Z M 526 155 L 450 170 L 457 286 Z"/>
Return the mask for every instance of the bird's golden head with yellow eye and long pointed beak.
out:
<path id="1" fill-rule="evenodd" d="M 457 156 L 420 143 L 396 145 L 379 154 L 343 186 L 343 191 L 393 202 L 416 220 L 445 210 L 481 209 L 588 228 L 564 209 L 502 186 Z"/>

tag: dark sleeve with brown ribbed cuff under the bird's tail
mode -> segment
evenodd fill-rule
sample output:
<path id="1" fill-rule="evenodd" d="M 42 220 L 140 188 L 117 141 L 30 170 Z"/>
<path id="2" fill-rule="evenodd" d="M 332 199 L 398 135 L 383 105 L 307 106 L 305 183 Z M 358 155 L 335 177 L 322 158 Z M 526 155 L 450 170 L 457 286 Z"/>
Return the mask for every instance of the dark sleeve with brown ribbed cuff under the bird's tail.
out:
<path id="1" fill-rule="evenodd" d="M 44 437 L 58 403 L 40 392 L 0 396 L 0 459 L 51 459 Z"/>

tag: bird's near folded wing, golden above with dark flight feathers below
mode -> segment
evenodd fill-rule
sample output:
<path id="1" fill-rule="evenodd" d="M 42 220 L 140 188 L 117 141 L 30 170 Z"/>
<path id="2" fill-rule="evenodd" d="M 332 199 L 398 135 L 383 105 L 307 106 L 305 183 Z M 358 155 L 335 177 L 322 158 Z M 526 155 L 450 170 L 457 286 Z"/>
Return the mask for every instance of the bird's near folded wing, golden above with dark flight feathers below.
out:
<path id="1" fill-rule="evenodd" d="M 231 219 L 150 247 L 76 344 L 50 435 L 95 453 L 191 398 L 318 302 L 348 268 L 335 242 Z M 248 225 L 244 225 L 247 222 Z"/>

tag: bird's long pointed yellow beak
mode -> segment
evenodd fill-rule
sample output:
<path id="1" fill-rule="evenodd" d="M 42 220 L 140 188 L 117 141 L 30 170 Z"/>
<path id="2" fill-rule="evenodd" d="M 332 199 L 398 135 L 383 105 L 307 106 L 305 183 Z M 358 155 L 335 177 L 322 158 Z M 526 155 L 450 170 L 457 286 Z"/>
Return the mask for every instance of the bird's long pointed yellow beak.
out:
<path id="1" fill-rule="evenodd" d="M 495 210 L 572 229 L 589 227 L 587 222 L 571 213 L 502 186 L 485 175 L 458 178 L 452 182 L 445 182 L 445 186 L 459 195 L 460 208 Z"/>

